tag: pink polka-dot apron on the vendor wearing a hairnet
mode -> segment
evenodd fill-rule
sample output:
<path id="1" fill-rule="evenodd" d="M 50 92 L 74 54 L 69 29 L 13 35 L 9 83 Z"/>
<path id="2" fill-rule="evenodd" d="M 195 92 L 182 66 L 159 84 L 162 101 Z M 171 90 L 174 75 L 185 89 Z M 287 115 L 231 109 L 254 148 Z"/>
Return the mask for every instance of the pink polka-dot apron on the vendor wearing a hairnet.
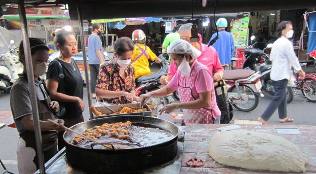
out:
<path id="1" fill-rule="evenodd" d="M 190 84 L 193 83 L 193 76 L 196 73 L 195 67 L 192 69 L 190 77 L 183 76 L 180 77 L 179 81 L 179 97 L 180 102 L 191 102 L 197 100 L 194 98 L 192 94 L 192 89 L 190 88 Z M 184 80 L 184 86 L 181 86 L 181 81 Z M 213 96 L 213 95 L 212 95 Z M 184 123 L 198 123 L 198 124 L 212 124 L 213 123 L 213 113 L 212 107 L 202 107 L 199 109 L 183 109 L 184 111 Z"/>

